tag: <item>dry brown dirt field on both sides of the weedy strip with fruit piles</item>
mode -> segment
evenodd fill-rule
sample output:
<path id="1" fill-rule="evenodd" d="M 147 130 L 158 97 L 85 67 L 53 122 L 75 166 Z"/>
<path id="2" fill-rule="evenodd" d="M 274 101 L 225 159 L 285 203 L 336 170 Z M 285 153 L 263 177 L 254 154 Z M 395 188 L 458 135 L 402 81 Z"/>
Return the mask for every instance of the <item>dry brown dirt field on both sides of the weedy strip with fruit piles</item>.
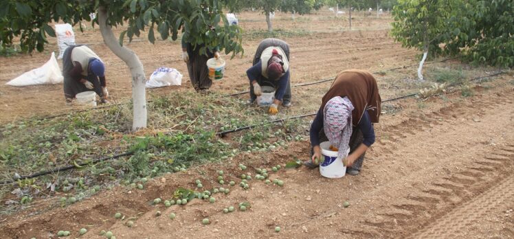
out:
<path id="1" fill-rule="evenodd" d="M 343 69 L 384 71 L 377 76 L 383 100 L 416 93 L 428 83 L 416 82 L 412 49 L 403 49 L 388 36 L 390 16 L 357 14 L 354 30 L 347 19 L 335 19 L 328 10 L 297 16 L 277 14 L 276 30 L 320 31 L 284 36 L 291 45 L 292 84 L 331 78 Z M 247 32 L 263 30 L 264 16 L 240 15 Z M 341 31 L 342 30 L 342 31 Z M 131 95 L 130 74 L 100 40 L 98 30 L 76 33 L 107 62 L 109 91 L 115 102 Z M 236 93 L 247 89 L 245 70 L 260 38 L 244 41 L 243 58 L 228 61 L 226 78 L 212 90 Z M 161 66 L 184 74 L 183 86 L 150 90 L 150 94 L 192 91 L 179 43 L 142 39 L 128 45 L 137 52 L 147 76 Z M 48 46 L 49 51 L 56 44 Z M 14 88 L 5 82 L 47 60 L 49 52 L 32 56 L 0 58 L 0 122 L 16 122 L 29 116 L 43 117 L 71 110 L 65 106 L 62 85 Z M 228 58 L 228 56 L 227 56 Z M 462 65 L 456 60 L 434 63 L 426 71 L 462 68 L 469 78 L 487 76 L 495 69 Z M 187 172 L 151 179 L 145 190 L 115 187 L 63 208 L 50 201 L 0 215 L 0 238 L 57 238 L 59 230 L 78 238 L 104 238 L 101 230 L 116 238 L 514 238 L 514 76 L 511 71 L 486 81 L 470 82 L 474 94 L 462 97 L 458 89 L 420 100 L 405 98 L 383 104 L 377 140 L 368 150 L 364 168 L 356 177 L 325 179 L 317 170 L 304 167 L 279 170 L 271 179 L 284 185 L 253 179 L 250 189 L 238 187 L 243 173 L 255 168 L 282 166 L 293 158 L 309 158 L 309 141 L 292 142 L 289 148 L 266 153 L 243 153 L 219 163 L 190 168 Z M 293 108 L 279 117 L 313 113 L 330 83 L 293 88 Z M 241 98 L 246 98 L 246 95 Z M 44 100 L 42 100 L 44 99 Z M 248 166 L 243 171 L 239 163 Z M 170 198 L 178 187 L 194 187 L 201 179 L 205 188 L 218 187 L 216 170 L 236 185 L 229 194 L 215 194 L 216 202 L 194 200 L 188 205 L 152 205 L 154 198 Z M 344 207 L 344 201 L 350 207 Z M 223 214 L 228 206 L 249 202 L 246 212 Z M 159 210 L 162 215 L 155 216 Z M 126 218 L 117 220 L 115 212 Z M 174 212 L 177 218 L 168 215 Z M 126 227 L 131 218 L 133 227 Z M 203 218 L 210 225 L 202 225 Z M 276 233 L 274 228 L 281 227 Z"/>

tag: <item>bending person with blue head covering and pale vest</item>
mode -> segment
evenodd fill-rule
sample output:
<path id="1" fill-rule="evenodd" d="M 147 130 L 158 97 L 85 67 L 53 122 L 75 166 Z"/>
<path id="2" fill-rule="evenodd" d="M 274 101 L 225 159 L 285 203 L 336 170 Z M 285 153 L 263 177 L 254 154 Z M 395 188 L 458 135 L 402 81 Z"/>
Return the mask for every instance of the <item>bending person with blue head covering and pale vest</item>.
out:
<path id="1" fill-rule="evenodd" d="M 66 102 L 84 91 L 95 91 L 102 103 L 107 103 L 109 91 L 105 82 L 105 66 L 89 47 L 72 45 L 63 56 L 64 92 Z"/>

